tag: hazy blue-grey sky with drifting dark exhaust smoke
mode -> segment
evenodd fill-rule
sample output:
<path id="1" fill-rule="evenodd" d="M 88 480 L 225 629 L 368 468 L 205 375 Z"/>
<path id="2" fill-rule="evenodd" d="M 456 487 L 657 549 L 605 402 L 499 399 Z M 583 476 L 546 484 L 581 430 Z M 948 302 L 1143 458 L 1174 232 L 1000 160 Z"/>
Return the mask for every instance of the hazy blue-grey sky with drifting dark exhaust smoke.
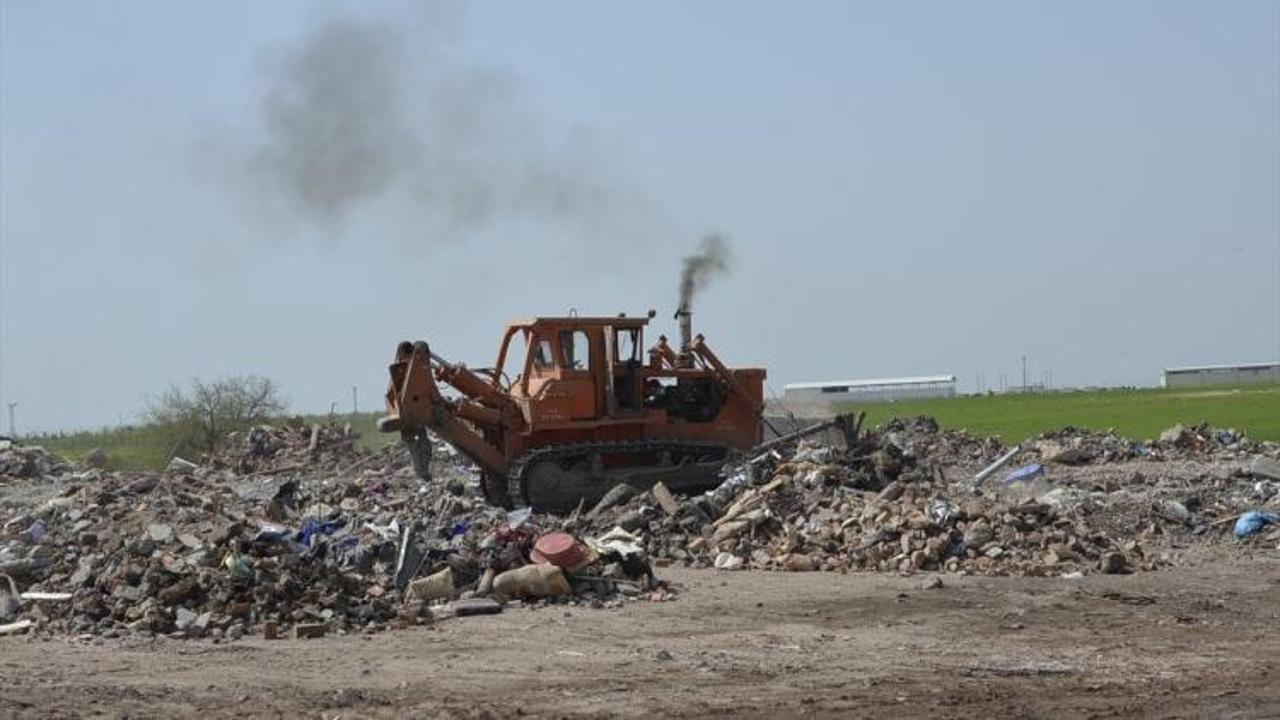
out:
<path id="1" fill-rule="evenodd" d="M 787 382 L 1280 356 L 1280 3 L 0 0 L 0 402 L 380 402 L 676 301 Z M 654 337 L 655 333 L 650 334 Z M 3 429 L 5 425 L 0 425 Z"/>

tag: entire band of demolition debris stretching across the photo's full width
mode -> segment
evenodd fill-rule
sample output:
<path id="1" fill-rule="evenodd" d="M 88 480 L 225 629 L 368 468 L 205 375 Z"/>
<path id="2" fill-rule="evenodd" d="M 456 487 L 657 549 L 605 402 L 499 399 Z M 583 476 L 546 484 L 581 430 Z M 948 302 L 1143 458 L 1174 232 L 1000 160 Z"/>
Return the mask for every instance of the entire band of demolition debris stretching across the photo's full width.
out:
<path id="1" fill-rule="evenodd" d="M 746 457 L 703 495 L 620 486 L 566 516 L 486 505 L 443 443 L 428 483 L 338 427 L 255 428 L 163 474 L 0 442 L 0 633 L 315 637 L 672 600 L 668 565 L 1073 577 L 1280 538 L 1280 446 L 1207 427 L 1066 428 L 1010 454 L 893 420 Z M 1251 510 L 1258 529 L 1231 538 Z"/>

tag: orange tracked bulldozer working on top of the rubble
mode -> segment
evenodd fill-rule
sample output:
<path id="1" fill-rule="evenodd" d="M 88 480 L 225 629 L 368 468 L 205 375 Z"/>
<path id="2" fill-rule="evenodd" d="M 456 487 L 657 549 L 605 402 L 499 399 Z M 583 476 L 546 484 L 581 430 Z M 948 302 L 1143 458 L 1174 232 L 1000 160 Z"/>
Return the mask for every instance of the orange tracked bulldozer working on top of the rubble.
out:
<path id="1" fill-rule="evenodd" d="M 590 507 L 620 483 L 712 488 L 731 454 L 763 439 L 764 370 L 727 368 L 692 337 L 687 305 L 676 313 L 680 348 L 659 336 L 645 357 L 653 316 L 516 320 L 492 369 L 401 342 L 379 429 L 401 433 L 424 478 L 430 430 L 475 461 L 485 498 L 508 509 Z"/>

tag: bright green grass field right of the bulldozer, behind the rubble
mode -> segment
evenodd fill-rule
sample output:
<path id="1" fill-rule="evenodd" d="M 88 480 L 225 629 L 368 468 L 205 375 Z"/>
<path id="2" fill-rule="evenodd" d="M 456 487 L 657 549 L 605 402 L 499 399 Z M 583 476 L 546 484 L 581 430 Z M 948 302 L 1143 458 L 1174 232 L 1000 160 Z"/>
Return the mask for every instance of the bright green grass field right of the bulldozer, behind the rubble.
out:
<path id="1" fill-rule="evenodd" d="M 842 409 L 865 410 L 868 425 L 932 415 L 943 427 L 1000 436 L 1006 443 L 1064 425 L 1114 428 L 1125 437 L 1149 439 L 1178 423 L 1208 423 L 1245 430 L 1254 439 L 1280 441 L 1280 386 L 989 395 L 846 404 Z"/>

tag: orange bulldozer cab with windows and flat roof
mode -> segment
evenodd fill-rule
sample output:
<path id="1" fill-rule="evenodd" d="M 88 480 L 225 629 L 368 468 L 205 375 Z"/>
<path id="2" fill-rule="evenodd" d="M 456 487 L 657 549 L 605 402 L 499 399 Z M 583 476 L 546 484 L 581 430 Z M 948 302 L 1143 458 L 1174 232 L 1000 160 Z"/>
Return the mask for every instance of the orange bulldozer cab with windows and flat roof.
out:
<path id="1" fill-rule="evenodd" d="M 534 318 L 507 327 L 494 382 L 530 424 L 636 414 L 646 318 Z"/>

